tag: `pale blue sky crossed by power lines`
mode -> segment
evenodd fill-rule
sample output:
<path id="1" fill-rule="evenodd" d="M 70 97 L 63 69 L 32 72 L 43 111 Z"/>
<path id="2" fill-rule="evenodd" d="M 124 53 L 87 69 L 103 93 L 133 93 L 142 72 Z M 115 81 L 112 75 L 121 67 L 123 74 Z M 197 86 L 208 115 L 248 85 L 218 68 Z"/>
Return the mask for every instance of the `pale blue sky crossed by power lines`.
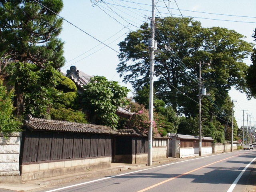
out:
<path id="1" fill-rule="evenodd" d="M 156 17 L 194 17 L 202 27 L 219 26 L 235 30 L 254 42 L 251 37 L 256 28 L 256 0 L 155 0 Z M 65 42 L 66 64 L 62 72 L 76 66 L 91 76 L 105 76 L 108 80 L 124 84 L 116 72 L 119 63 L 118 43 L 130 31 L 138 30 L 152 16 L 150 0 L 63 0 L 59 16 L 64 18 L 60 38 Z M 255 43 L 255 42 L 254 42 Z M 248 58 L 244 62 L 250 66 Z M 245 94 L 232 89 L 234 117 L 238 127 L 256 121 L 256 99 L 248 101 Z M 244 114 L 244 115 L 243 115 Z M 244 121 L 243 121 L 244 116 Z M 248 117 L 248 121 L 247 121 Z"/>

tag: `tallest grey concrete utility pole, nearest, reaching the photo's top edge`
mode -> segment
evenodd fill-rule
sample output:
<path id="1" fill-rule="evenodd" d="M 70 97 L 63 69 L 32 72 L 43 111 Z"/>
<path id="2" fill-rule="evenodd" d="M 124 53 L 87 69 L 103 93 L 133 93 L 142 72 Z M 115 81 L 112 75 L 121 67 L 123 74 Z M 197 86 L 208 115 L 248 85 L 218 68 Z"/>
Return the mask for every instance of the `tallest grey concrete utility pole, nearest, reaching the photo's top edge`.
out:
<path id="1" fill-rule="evenodd" d="M 149 121 L 148 129 L 148 166 L 152 165 L 152 142 L 153 142 L 153 77 L 154 77 L 154 51 L 156 50 L 155 42 L 155 0 L 152 0 L 152 18 L 151 18 L 151 38 L 148 39 L 148 51 L 150 53 L 150 85 L 149 85 Z"/>

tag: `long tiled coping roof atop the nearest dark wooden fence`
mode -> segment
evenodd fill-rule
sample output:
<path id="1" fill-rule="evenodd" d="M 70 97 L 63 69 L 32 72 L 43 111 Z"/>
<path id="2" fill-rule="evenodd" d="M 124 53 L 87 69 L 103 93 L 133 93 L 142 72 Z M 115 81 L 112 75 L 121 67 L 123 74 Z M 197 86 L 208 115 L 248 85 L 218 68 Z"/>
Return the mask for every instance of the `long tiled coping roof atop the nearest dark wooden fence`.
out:
<path id="1" fill-rule="evenodd" d="M 42 119 L 42 118 L 33 118 L 31 115 L 26 116 L 22 127 L 26 127 L 30 130 L 41 130 L 41 131 L 44 130 L 44 131 L 58 131 L 58 132 L 118 134 L 118 132 L 112 130 L 112 128 L 108 126 L 58 121 L 58 120 Z"/>

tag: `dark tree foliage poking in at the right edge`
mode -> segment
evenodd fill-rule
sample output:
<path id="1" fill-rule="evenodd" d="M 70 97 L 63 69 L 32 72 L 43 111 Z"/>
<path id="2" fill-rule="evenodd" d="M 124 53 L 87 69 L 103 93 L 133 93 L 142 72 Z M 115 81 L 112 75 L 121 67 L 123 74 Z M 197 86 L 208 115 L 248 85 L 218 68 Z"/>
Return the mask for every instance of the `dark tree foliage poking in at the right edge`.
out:
<path id="1" fill-rule="evenodd" d="M 256 29 L 254 30 L 254 34 L 252 35 L 254 41 L 256 42 Z M 256 98 L 256 48 L 253 49 L 253 53 L 251 56 L 252 64 L 248 68 L 246 81 L 248 88 L 250 90 L 251 95 Z"/>

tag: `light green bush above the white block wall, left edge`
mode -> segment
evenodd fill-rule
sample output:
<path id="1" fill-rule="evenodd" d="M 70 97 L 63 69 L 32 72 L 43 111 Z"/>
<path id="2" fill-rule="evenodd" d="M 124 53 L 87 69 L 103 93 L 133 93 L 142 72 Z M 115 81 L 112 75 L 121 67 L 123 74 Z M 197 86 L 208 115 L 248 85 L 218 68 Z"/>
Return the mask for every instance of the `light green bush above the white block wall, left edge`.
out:
<path id="1" fill-rule="evenodd" d="M 15 118 L 12 114 L 14 107 L 12 105 L 13 90 L 8 92 L 3 81 L 0 79 L 0 132 L 5 135 L 12 132 L 20 132 L 21 120 Z"/>

